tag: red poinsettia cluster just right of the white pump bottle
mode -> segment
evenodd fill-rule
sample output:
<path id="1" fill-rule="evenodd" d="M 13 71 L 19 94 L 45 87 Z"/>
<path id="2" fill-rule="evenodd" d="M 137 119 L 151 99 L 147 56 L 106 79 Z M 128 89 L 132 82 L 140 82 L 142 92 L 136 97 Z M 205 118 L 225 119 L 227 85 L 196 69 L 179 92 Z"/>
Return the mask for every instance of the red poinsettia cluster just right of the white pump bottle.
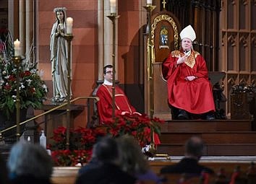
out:
<path id="1" fill-rule="evenodd" d="M 56 166 L 74 166 L 88 162 L 92 154 L 93 144 L 101 136 L 105 136 L 101 128 L 77 128 L 69 132 L 69 149 L 66 149 L 67 128 L 59 126 L 54 130 L 53 145 L 49 145 L 51 156 Z"/>

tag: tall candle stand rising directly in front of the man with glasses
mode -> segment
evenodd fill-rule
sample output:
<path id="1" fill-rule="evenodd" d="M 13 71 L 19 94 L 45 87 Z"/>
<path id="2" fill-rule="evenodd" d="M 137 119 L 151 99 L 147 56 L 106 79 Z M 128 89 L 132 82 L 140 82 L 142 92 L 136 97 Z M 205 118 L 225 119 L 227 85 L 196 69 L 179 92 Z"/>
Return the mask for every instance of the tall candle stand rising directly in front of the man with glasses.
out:
<path id="1" fill-rule="evenodd" d="M 108 19 L 111 19 L 113 24 L 113 52 L 112 52 L 112 66 L 113 66 L 113 81 L 112 81 L 112 119 L 115 119 L 115 95 L 116 95 L 116 19 L 120 16 L 116 13 L 111 13 L 107 16 Z"/>

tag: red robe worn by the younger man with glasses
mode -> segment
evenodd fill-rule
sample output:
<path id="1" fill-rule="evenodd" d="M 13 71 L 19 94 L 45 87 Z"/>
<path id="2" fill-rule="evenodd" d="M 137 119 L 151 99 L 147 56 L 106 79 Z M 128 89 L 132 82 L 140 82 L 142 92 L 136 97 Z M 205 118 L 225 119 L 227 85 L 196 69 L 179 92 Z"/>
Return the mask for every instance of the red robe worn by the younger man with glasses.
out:
<path id="1" fill-rule="evenodd" d="M 102 84 L 98 88 L 96 95 L 100 98 L 97 102 L 98 116 L 100 123 L 112 121 L 112 86 Z M 130 114 L 135 113 L 136 109 L 129 103 L 127 96 L 124 91 L 116 86 L 115 88 L 115 115 L 121 115 L 122 112 L 129 112 Z M 160 144 L 158 134 L 154 133 L 155 145 Z"/>

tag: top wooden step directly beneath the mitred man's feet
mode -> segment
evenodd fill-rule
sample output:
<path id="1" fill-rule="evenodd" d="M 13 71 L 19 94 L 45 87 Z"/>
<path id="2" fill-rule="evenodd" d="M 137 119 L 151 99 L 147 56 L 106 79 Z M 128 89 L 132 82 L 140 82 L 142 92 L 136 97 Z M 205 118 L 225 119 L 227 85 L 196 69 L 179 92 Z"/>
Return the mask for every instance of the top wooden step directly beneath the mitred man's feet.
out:
<path id="1" fill-rule="evenodd" d="M 167 121 L 161 124 L 161 131 L 252 131 L 251 120 L 188 120 Z"/>

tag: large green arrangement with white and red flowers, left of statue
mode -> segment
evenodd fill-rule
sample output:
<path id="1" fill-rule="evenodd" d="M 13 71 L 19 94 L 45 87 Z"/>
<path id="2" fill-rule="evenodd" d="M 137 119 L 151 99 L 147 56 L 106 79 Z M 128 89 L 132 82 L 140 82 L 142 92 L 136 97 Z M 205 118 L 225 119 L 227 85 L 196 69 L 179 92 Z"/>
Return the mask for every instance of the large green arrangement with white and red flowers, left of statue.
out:
<path id="1" fill-rule="evenodd" d="M 7 38 L 5 42 L 0 42 L 0 110 L 9 119 L 16 108 L 17 69 L 20 74 L 21 109 L 40 108 L 48 90 L 45 82 L 40 79 L 37 63 L 30 63 L 28 58 L 22 60 L 18 68 L 13 63 L 12 37 Z"/>

